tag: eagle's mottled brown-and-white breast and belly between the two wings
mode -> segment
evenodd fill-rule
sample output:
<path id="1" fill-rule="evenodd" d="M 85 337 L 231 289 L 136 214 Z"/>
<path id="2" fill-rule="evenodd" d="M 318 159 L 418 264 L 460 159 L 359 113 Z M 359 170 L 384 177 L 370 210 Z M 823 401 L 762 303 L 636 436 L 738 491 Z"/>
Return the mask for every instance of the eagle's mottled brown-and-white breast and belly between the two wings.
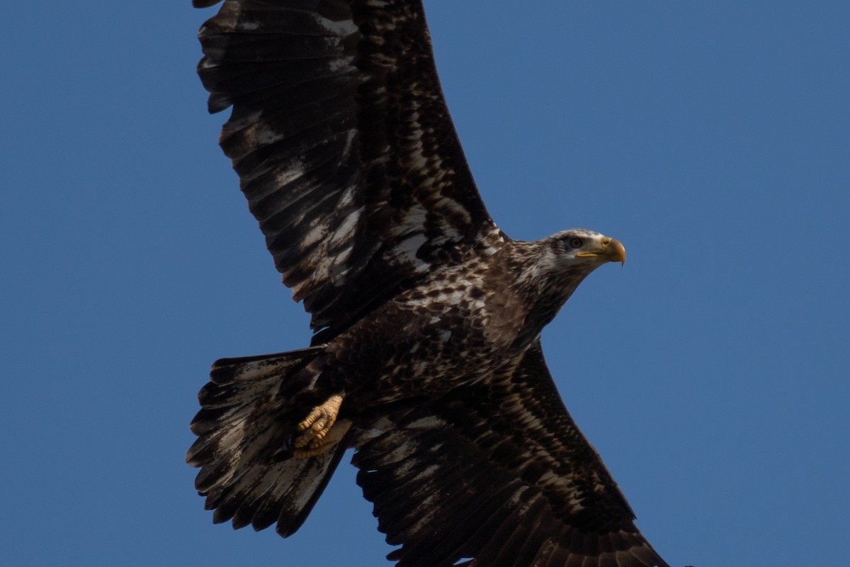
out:
<path id="1" fill-rule="evenodd" d="M 439 396 L 489 376 L 530 346 L 529 306 L 501 251 L 435 270 L 328 344 L 334 366 L 370 402 Z M 528 342 L 528 344 L 526 344 Z"/>

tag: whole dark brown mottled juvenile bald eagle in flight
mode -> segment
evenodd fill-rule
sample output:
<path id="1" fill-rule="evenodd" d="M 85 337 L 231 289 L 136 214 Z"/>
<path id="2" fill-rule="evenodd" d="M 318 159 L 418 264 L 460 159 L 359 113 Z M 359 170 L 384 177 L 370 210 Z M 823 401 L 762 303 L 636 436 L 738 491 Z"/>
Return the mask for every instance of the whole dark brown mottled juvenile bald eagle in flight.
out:
<path id="1" fill-rule="evenodd" d="M 666 565 L 541 352 L 543 326 L 625 249 L 496 227 L 422 4 L 227 0 L 200 38 L 209 111 L 233 107 L 220 144 L 315 332 L 212 366 L 187 461 L 213 520 L 291 535 L 354 447 L 399 567 Z"/>

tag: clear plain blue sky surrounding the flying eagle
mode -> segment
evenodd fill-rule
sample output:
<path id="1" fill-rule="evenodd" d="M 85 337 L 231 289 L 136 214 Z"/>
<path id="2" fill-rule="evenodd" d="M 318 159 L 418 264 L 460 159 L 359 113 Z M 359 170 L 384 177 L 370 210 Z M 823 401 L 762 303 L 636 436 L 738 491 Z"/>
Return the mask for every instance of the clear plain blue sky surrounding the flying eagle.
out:
<path id="1" fill-rule="evenodd" d="M 544 332 L 671 564 L 847 561 L 850 3 L 427 3 L 490 213 L 624 242 Z M 345 465 L 303 529 L 213 526 L 212 360 L 303 347 L 218 150 L 189 0 L 0 20 L 0 540 L 17 565 L 380 565 Z"/>

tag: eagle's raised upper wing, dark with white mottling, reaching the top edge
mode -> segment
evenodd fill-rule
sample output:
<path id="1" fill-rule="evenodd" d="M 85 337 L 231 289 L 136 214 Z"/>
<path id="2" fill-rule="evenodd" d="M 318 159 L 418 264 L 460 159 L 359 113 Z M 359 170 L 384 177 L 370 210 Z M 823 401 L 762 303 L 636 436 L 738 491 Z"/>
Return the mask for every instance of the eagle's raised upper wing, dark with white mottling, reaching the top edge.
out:
<path id="1" fill-rule="evenodd" d="M 220 144 L 314 329 L 342 331 L 458 249 L 500 246 L 421 2 L 226 0 L 200 38 L 209 110 L 233 106 Z"/>

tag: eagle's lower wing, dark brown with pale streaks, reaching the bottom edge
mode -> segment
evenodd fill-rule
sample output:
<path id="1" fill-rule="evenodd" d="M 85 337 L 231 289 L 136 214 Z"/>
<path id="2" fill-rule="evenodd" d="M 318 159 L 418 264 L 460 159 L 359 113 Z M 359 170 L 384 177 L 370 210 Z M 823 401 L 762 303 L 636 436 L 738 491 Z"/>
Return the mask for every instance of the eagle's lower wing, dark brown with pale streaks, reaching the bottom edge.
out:
<path id="1" fill-rule="evenodd" d="M 666 566 L 564 407 L 539 342 L 509 376 L 381 429 L 354 464 L 379 529 L 403 544 L 388 556 L 399 567 Z"/>

